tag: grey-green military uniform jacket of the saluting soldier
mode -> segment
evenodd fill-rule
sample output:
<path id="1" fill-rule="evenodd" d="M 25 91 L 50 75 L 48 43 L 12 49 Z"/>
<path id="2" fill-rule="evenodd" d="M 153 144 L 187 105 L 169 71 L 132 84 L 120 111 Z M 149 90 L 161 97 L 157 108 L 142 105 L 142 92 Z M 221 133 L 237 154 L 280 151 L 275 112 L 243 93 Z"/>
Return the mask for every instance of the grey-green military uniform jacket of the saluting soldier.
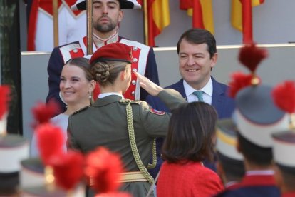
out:
<path id="1" fill-rule="evenodd" d="M 172 89 L 160 91 L 158 96 L 172 111 L 187 102 Z M 131 102 L 135 141 L 143 164 L 148 166 L 153 140 L 166 135 L 171 114 L 152 111 L 145 101 Z M 68 120 L 68 148 L 88 153 L 98 146 L 119 153 L 125 171 L 139 171 L 130 148 L 126 102 L 118 95 L 98 98 L 93 106 L 74 113 Z M 125 183 L 122 190 L 145 196 L 149 188 L 148 181 L 143 181 Z"/>

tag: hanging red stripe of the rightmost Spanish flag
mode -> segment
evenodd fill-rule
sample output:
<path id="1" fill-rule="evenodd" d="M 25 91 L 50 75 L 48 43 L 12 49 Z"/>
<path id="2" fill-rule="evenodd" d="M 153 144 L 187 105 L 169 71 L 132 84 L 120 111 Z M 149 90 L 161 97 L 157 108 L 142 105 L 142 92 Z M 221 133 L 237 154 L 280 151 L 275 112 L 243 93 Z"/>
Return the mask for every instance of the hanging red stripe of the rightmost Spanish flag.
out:
<path id="1" fill-rule="evenodd" d="M 241 0 L 242 3 L 242 26 L 243 26 L 243 44 L 253 42 L 252 34 L 252 4 L 249 0 Z"/>

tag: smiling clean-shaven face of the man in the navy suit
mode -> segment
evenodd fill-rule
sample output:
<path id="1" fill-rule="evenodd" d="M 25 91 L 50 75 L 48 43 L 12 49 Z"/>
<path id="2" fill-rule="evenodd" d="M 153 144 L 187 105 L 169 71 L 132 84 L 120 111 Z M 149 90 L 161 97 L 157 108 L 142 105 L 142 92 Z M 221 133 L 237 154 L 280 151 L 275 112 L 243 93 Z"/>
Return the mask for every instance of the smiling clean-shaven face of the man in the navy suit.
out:
<path id="1" fill-rule="evenodd" d="M 190 44 L 182 39 L 178 59 L 182 79 L 194 89 L 202 89 L 210 79 L 211 69 L 217 61 L 217 54 L 210 59 L 207 44 Z"/>

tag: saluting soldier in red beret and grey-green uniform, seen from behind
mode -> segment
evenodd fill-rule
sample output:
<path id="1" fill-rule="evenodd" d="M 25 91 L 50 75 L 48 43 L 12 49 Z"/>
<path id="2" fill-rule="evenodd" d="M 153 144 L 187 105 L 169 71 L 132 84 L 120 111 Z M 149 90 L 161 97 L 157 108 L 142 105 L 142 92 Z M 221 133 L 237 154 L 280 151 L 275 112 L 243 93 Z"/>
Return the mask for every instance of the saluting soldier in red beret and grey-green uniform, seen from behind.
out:
<path id="1" fill-rule="evenodd" d="M 146 196 L 153 181 L 147 167 L 154 138 L 166 135 L 170 114 L 151 109 L 145 101 L 124 99 L 131 75 L 135 74 L 137 83 L 152 96 L 159 96 L 172 111 L 187 101 L 177 91 L 162 89 L 131 71 L 132 60 L 130 46 L 125 44 L 108 44 L 95 51 L 90 59 L 91 72 L 101 93 L 92 106 L 70 116 L 68 148 L 88 153 L 104 146 L 119 153 L 127 172 L 121 190 L 138 197 Z"/>

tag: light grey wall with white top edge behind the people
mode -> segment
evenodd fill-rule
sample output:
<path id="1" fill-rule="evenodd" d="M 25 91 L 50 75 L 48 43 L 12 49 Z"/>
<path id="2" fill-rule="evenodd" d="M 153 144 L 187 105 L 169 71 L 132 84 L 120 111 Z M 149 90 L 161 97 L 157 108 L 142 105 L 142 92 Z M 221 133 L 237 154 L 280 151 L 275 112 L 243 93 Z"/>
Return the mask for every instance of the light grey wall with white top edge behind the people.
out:
<path id="1" fill-rule="evenodd" d="M 212 76 L 217 81 L 225 84 L 229 82 L 229 75 L 233 71 L 244 71 L 249 74 L 249 71 L 244 69 L 237 55 L 240 46 L 219 46 L 218 61 L 212 70 Z M 257 69 L 257 74 L 261 77 L 263 84 L 274 86 L 285 79 L 294 80 L 294 65 L 295 65 L 295 44 L 286 44 L 286 46 L 267 46 L 269 50 L 269 58 L 262 61 L 262 64 Z M 22 103 L 23 103 L 23 125 L 24 136 L 31 138 L 32 128 L 31 123 L 33 117 L 31 108 L 38 101 L 45 102 L 48 94 L 48 74 L 46 71 L 50 53 L 21 53 L 21 84 L 22 84 Z M 159 47 L 155 49 L 157 60 L 157 69 L 161 86 L 167 86 L 180 80 L 178 71 L 178 58 L 175 47 L 163 49 Z M 169 57 L 169 59 L 167 59 Z M 282 64 L 284 60 L 284 64 Z M 32 74 L 33 71 L 33 74 Z"/>

